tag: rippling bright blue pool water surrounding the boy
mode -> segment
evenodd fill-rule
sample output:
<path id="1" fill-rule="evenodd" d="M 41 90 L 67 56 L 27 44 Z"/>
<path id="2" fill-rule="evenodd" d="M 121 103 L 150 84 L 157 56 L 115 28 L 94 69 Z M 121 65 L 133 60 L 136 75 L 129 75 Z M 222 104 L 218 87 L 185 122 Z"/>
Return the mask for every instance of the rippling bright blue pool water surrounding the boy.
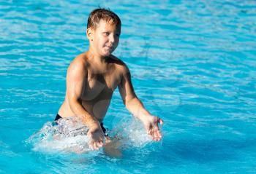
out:
<path id="1" fill-rule="evenodd" d="M 164 138 L 148 141 L 116 91 L 105 125 L 129 139 L 121 157 L 35 149 L 99 5 L 121 17 L 114 54 Z M 0 173 L 256 173 L 255 43 L 256 1 L 0 1 Z"/>

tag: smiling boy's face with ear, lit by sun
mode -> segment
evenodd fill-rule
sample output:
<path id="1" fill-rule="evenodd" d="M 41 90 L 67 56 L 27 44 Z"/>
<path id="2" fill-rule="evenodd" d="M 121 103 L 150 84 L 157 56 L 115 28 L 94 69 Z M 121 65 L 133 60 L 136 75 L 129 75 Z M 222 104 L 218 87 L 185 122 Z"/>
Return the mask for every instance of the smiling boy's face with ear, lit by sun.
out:
<path id="1" fill-rule="evenodd" d="M 121 27 L 113 25 L 105 20 L 100 20 L 100 23 L 96 29 L 88 29 L 87 36 L 90 40 L 90 47 L 97 55 L 109 56 L 119 43 L 119 36 L 121 33 Z"/>

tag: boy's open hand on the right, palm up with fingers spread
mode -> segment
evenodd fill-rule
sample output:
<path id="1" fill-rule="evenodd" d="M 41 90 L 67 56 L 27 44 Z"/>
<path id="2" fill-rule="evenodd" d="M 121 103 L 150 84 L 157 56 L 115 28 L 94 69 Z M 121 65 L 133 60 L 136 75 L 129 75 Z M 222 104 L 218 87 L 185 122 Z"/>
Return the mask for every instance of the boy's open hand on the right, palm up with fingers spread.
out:
<path id="1" fill-rule="evenodd" d="M 143 119 L 143 124 L 146 128 L 148 135 L 151 135 L 151 138 L 154 141 L 160 141 L 162 134 L 159 130 L 158 124 L 163 124 L 164 122 L 158 116 L 147 116 Z"/>

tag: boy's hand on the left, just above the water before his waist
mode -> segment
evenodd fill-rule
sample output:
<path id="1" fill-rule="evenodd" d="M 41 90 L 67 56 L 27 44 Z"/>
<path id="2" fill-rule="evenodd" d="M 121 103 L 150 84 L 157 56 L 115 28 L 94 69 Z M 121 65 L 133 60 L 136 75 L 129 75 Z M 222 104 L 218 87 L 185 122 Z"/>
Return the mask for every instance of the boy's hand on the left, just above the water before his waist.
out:
<path id="1" fill-rule="evenodd" d="M 99 150 L 103 146 L 104 134 L 99 124 L 91 125 L 87 135 L 91 138 L 89 145 L 91 149 Z"/>

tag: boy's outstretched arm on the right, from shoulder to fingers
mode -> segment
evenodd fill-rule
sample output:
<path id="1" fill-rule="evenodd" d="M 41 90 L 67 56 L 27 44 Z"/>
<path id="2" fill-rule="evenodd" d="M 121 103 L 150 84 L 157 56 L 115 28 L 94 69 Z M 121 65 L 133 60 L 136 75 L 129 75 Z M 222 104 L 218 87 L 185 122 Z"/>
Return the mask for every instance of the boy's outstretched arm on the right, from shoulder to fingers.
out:
<path id="1" fill-rule="evenodd" d="M 118 89 L 123 99 L 124 105 L 129 112 L 143 122 L 148 135 L 151 135 L 154 141 L 159 141 L 162 138 L 158 123 L 163 124 L 162 119 L 157 116 L 152 116 L 143 103 L 138 99 L 132 87 L 131 74 L 129 68 L 124 65 L 123 76 L 118 84 Z"/>

